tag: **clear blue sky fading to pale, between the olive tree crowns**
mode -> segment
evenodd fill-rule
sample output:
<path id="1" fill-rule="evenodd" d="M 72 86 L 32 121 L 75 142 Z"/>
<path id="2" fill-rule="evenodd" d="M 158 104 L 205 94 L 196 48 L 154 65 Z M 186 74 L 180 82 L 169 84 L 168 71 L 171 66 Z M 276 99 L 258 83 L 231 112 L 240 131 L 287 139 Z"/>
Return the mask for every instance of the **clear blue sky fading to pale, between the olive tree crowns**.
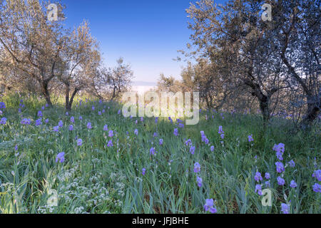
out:
<path id="1" fill-rule="evenodd" d="M 106 66 L 123 57 L 134 71 L 133 81 L 146 82 L 156 82 L 160 73 L 180 78 L 185 63 L 173 58 L 189 41 L 185 9 L 190 2 L 195 0 L 62 0 L 66 26 L 88 20 Z"/>

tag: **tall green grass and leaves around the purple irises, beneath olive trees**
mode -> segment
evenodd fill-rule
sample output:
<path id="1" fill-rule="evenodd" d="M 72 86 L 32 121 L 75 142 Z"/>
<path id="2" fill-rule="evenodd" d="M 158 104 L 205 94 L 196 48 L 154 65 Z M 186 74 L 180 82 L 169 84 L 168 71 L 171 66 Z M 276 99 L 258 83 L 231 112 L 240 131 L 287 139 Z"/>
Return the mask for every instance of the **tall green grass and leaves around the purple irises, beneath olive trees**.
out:
<path id="1" fill-rule="evenodd" d="M 26 107 L 18 113 L 21 99 Z M 220 113 L 202 111 L 198 125 L 178 128 L 179 136 L 175 136 L 176 123 L 167 118 L 157 124 L 154 118 L 141 122 L 118 115 L 121 106 L 117 103 L 88 101 L 74 106 L 69 115 L 62 104 L 46 108 L 42 125 L 35 126 L 44 100 L 15 94 L 0 101 L 6 103 L 1 118 L 8 119 L 0 125 L 1 213 L 208 213 L 203 205 L 210 198 L 218 213 L 280 213 L 281 203 L 290 203 L 291 213 L 321 212 L 320 193 L 312 190 L 312 185 L 320 184 L 312 177 L 320 169 L 320 125 L 294 134 L 290 120 L 275 118 L 263 130 L 258 115 L 224 113 L 223 119 Z M 106 112 L 98 115 L 103 109 Z M 31 118 L 31 125 L 21 125 L 21 114 Z M 75 118 L 73 131 L 68 130 L 71 116 Z M 49 123 L 44 123 L 47 118 Z M 63 128 L 56 133 L 53 127 L 59 120 Z M 91 130 L 86 128 L 88 122 Z M 104 125 L 117 132 L 113 147 L 107 147 L 110 138 Z M 223 142 L 220 125 L 225 132 Z M 209 145 L 201 141 L 201 130 Z M 155 132 L 158 137 L 153 137 Z M 251 134 L 253 143 L 248 142 Z M 82 146 L 77 146 L 76 138 L 83 140 Z M 161 138 L 163 145 L 158 143 Z M 196 147 L 194 155 L 185 145 L 188 139 Z M 281 187 L 272 150 L 280 142 L 285 144 L 282 162 L 296 163 L 294 168 L 285 168 Z M 213 152 L 210 145 L 215 147 Z M 150 155 L 151 147 L 156 147 L 156 156 Z M 66 153 L 63 163 L 55 162 L 59 152 Z M 198 174 L 193 172 L 195 162 L 201 166 Z M 257 171 L 263 175 L 263 189 L 264 174 L 270 172 L 272 207 L 263 207 L 262 196 L 255 192 Z M 197 185 L 197 176 L 203 179 L 202 187 Z M 289 187 L 291 180 L 297 182 L 295 189 Z M 54 192 L 58 206 L 50 204 Z"/>

